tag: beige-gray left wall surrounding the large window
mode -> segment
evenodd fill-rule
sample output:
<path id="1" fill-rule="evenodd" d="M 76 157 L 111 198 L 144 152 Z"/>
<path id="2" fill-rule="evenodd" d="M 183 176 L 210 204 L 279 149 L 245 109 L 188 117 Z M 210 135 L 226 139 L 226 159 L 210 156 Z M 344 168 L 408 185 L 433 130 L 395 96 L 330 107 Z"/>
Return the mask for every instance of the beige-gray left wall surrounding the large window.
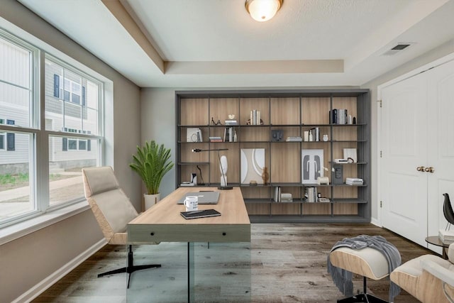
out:
<path id="1" fill-rule="evenodd" d="M 106 164 L 114 166 L 121 187 L 140 209 L 140 179 L 128 167 L 135 146 L 140 144 L 140 89 L 17 1 L 1 0 L 0 17 L 114 83 L 114 104 L 106 104 L 116 121 L 106 127 L 111 150 Z M 16 299 L 102 238 L 88 210 L 0 246 L 0 302 Z"/>

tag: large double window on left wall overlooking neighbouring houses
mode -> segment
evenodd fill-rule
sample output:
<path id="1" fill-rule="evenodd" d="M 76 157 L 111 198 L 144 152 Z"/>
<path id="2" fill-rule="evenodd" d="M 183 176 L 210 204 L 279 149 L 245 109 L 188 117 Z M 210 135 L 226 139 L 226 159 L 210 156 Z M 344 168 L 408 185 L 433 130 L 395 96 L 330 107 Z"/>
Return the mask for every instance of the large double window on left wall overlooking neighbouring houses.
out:
<path id="1" fill-rule="evenodd" d="M 40 57 L 0 30 L 0 226 L 82 201 L 82 167 L 101 164 L 102 83 Z"/>

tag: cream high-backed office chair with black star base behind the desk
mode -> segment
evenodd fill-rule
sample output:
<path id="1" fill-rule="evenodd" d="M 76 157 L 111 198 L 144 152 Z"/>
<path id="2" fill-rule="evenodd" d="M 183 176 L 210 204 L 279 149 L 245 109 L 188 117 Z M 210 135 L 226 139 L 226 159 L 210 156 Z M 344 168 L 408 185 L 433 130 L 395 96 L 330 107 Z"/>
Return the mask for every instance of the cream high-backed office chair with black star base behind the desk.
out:
<path id="1" fill-rule="evenodd" d="M 92 207 L 96 220 L 104 233 L 108 244 L 128 244 L 126 225 L 138 216 L 133 204 L 120 188 L 112 167 L 90 167 L 82 169 L 85 198 Z M 160 268 L 161 265 L 133 265 L 131 243 L 128 246 L 128 264 L 126 268 L 118 268 L 98 275 L 112 275 L 127 272 L 128 287 L 131 273 L 146 268 Z"/>

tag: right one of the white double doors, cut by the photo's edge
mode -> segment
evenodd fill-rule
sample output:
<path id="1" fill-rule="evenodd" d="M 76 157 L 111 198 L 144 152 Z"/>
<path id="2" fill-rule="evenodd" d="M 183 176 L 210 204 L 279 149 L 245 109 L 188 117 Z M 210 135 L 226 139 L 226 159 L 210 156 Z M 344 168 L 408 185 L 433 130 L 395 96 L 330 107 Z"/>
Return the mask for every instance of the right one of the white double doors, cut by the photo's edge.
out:
<path id="1" fill-rule="evenodd" d="M 428 233 L 436 236 L 447 221 L 443 194 L 454 202 L 454 61 L 433 68 L 428 74 Z M 454 227 L 450 228 L 454 231 Z M 429 248 L 434 249 L 432 246 Z M 438 251 L 438 250 L 437 250 Z"/>

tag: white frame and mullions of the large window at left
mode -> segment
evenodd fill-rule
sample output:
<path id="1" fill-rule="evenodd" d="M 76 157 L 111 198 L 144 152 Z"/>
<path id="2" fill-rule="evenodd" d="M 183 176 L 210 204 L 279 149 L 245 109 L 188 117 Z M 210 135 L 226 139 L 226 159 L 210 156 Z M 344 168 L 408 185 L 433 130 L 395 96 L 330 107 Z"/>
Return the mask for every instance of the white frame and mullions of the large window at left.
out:
<path id="1" fill-rule="evenodd" d="M 0 133 L 4 134 L 4 147 L 5 149 L 1 150 L 1 153 L 6 153 L 6 148 L 8 146 L 7 135 L 10 133 L 14 136 L 16 133 L 26 133 L 30 137 L 30 145 L 28 148 L 29 153 L 29 162 L 28 165 L 31 167 L 29 169 L 29 184 L 31 187 L 30 190 L 30 200 L 29 202 L 33 204 L 32 211 L 26 211 L 16 216 L 11 216 L 7 219 L 3 219 L 0 221 L 0 230 L 6 226 L 21 226 L 21 223 L 26 223 L 27 220 L 35 221 L 35 218 L 48 214 L 50 212 L 55 212 L 59 209 L 68 209 L 68 211 L 74 211 L 74 206 L 79 205 L 79 207 L 86 208 L 87 202 L 85 201 L 84 197 L 79 197 L 77 199 L 72 199 L 71 201 L 63 202 L 57 205 L 50 205 L 50 196 L 49 196 L 49 154 L 48 148 L 43 148 L 48 146 L 49 138 L 51 136 L 58 136 L 58 137 L 77 137 L 77 148 L 79 148 L 79 140 L 81 141 L 91 141 L 96 140 L 98 143 L 98 154 L 96 155 L 96 165 L 103 165 L 104 164 L 104 85 L 105 80 L 102 79 L 101 75 L 94 72 L 93 70 L 89 69 L 89 67 L 84 66 L 81 62 L 77 62 L 71 57 L 66 57 L 65 55 L 53 55 L 47 50 L 43 50 L 42 48 L 35 47 L 31 43 L 28 43 L 25 38 L 21 38 L 21 35 L 11 34 L 8 31 L 0 28 L 0 38 L 6 40 L 8 43 L 12 43 L 13 45 L 18 46 L 19 48 L 23 48 L 30 54 L 30 70 L 29 70 L 29 77 L 30 79 L 30 87 L 25 88 L 28 89 L 30 94 L 29 99 L 29 108 L 28 108 L 28 116 L 29 116 L 29 126 L 23 127 L 18 126 L 15 123 L 6 123 L 7 117 L 2 117 L 4 123 L 0 123 Z M 35 39 L 35 38 L 33 38 Z M 33 40 L 32 39 L 32 40 Z M 42 41 L 38 40 L 39 44 L 42 44 Z M 46 46 L 46 48 L 48 48 Z M 59 53 L 59 52 L 55 52 Z M 59 57 L 63 57 L 65 59 L 60 59 Z M 98 84 L 98 135 L 94 136 L 90 132 L 84 133 L 67 133 L 65 131 L 47 131 L 45 129 L 45 60 L 50 58 L 53 62 L 56 62 L 59 65 L 65 65 L 65 68 L 71 70 L 72 72 L 76 72 L 77 75 L 89 79 L 89 81 Z M 74 61 L 77 65 L 81 66 L 83 70 L 80 68 L 74 67 L 70 63 L 65 62 L 65 60 Z M 40 72 L 44 71 L 44 72 Z M 92 76 L 87 74 L 87 72 L 92 72 L 96 76 Z M 41 77 L 42 76 L 42 77 Z M 101 77 L 98 79 L 97 77 Z M 1 80 L 0 80 L 1 81 Z M 10 84 L 9 82 L 2 81 L 6 84 Z M 76 82 L 74 82 L 76 83 Z M 80 84 L 81 94 L 79 95 L 79 106 L 85 106 L 86 101 L 83 99 L 84 89 L 82 83 Z M 73 103 L 76 104 L 77 103 Z M 88 143 L 85 145 L 87 150 Z M 33 167 L 33 168 L 32 168 Z M 83 203 L 82 203 L 83 202 Z M 84 204 L 80 206 L 80 203 Z M 60 214 L 60 211 L 55 212 L 55 214 Z M 52 215 L 53 216 L 53 215 Z M 60 216 L 60 215 L 59 215 Z M 41 219 L 40 219 L 41 220 Z M 32 222 L 31 221 L 31 222 Z"/>

